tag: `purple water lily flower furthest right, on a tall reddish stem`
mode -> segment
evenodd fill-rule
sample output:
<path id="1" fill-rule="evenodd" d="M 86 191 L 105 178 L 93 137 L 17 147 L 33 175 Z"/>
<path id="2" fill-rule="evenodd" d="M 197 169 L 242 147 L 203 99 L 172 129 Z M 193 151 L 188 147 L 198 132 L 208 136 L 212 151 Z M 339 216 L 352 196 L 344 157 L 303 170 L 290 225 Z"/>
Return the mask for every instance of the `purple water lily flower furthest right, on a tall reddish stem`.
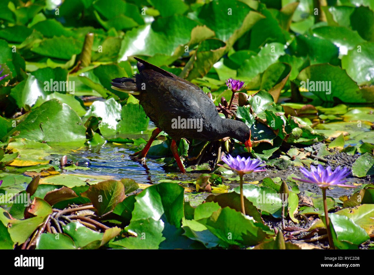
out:
<path id="1" fill-rule="evenodd" d="M 324 167 L 321 164 L 319 164 L 317 168 L 315 168 L 315 166 L 313 165 L 310 165 L 310 170 L 311 171 L 308 171 L 304 167 L 300 168 L 300 171 L 304 174 L 307 180 L 300 178 L 293 179 L 303 181 L 306 183 L 315 183 L 320 188 L 327 188 L 331 185 L 356 188 L 356 186 L 343 184 L 347 181 L 343 180 L 343 178 L 347 177 L 347 175 L 349 175 L 350 173 L 349 169 L 346 167 L 340 169 L 339 165 L 334 171 L 331 171 L 330 166 L 327 166 L 325 170 Z"/>

